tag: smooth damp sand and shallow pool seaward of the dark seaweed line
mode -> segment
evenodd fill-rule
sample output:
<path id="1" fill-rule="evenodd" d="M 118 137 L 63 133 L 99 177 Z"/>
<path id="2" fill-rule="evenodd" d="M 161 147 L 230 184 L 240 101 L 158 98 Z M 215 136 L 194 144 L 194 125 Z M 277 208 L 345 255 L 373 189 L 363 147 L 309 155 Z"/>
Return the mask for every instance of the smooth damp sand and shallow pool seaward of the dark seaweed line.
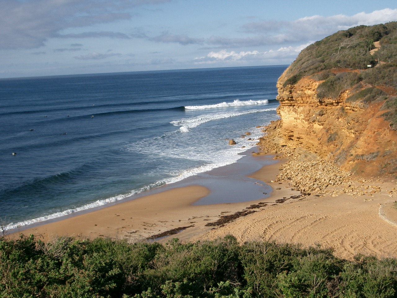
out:
<path id="1" fill-rule="evenodd" d="M 249 151 L 252 149 L 255 148 Z M 19 234 L 34 234 L 46 241 L 58 236 L 100 236 L 139 241 L 166 230 L 190 226 L 195 218 L 203 218 L 200 226 L 204 226 L 208 220 L 215 219 L 220 214 L 237 212 L 251 201 L 258 201 L 259 198 L 264 201 L 270 197 L 271 188 L 261 183 L 258 177 L 250 177 L 249 174 L 260 168 L 258 159 L 264 163 L 264 167 L 278 164 L 278 161 L 274 161 L 274 155 L 252 153 L 246 151 L 243 154 L 246 156 L 236 163 L 122 201 L 15 228 L 8 235 L 15 237 Z M 214 181 L 222 183 L 217 185 Z M 255 192 L 252 192 L 253 188 L 256 189 Z M 241 199 L 244 193 L 252 199 Z M 222 202 L 224 198 L 227 199 L 226 202 Z M 230 206 L 233 207 L 229 208 Z M 183 213 L 189 214 L 189 217 L 183 217 Z"/>

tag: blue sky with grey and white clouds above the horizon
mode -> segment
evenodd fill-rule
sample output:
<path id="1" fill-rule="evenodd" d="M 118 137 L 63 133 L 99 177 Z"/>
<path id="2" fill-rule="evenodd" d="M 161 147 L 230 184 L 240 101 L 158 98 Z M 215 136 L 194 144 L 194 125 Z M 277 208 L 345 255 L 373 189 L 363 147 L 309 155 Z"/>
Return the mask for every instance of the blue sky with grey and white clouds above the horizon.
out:
<path id="1" fill-rule="evenodd" d="M 395 0 L 0 0 L 0 78 L 291 64 Z"/>

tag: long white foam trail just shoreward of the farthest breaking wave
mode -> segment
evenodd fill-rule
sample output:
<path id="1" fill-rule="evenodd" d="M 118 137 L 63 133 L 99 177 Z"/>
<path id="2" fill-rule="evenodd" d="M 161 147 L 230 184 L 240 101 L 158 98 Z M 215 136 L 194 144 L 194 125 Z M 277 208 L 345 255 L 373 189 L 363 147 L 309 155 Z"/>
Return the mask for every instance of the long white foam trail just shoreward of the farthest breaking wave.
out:
<path id="1" fill-rule="evenodd" d="M 180 120 L 171 121 L 170 123 L 174 126 L 183 127 L 183 130 L 180 128 L 181 132 L 188 132 L 192 128 L 199 126 L 200 124 L 210 122 L 212 120 L 219 120 L 224 118 L 236 117 L 245 114 L 252 114 L 258 112 L 267 112 L 267 111 L 275 111 L 276 108 L 265 108 L 265 109 L 257 109 L 257 110 L 247 110 L 241 112 L 219 112 L 219 113 L 211 113 L 211 114 L 203 114 L 200 116 L 194 116 L 189 118 L 183 118 Z"/>

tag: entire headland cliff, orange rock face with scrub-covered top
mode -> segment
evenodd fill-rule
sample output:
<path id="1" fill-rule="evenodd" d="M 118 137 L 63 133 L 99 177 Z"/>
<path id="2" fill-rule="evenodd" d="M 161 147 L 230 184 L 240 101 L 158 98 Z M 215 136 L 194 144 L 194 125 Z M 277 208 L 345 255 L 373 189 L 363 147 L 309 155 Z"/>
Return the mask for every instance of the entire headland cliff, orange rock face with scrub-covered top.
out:
<path id="1" fill-rule="evenodd" d="M 308 46 L 278 79 L 280 120 L 260 147 L 272 139 L 360 176 L 397 176 L 396 52 L 397 22 Z"/>

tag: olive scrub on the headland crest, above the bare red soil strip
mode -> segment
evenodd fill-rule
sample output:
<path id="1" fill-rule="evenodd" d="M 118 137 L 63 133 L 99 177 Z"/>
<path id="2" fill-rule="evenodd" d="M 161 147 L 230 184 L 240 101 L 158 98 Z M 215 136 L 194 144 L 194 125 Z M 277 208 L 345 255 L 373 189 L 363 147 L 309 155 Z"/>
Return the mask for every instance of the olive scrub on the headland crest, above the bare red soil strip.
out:
<path id="1" fill-rule="evenodd" d="M 374 48 L 376 41 L 380 41 L 381 47 L 372 55 L 370 50 Z M 361 25 L 316 41 L 302 50 L 288 68 L 284 85 L 294 84 L 303 76 L 324 70 L 364 70 L 368 65 L 378 64 L 378 59 L 387 63 L 387 67 L 397 66 L 397 22 Z M 383 83 L 396 84 L 397 81 L 389 78 Z"/>

